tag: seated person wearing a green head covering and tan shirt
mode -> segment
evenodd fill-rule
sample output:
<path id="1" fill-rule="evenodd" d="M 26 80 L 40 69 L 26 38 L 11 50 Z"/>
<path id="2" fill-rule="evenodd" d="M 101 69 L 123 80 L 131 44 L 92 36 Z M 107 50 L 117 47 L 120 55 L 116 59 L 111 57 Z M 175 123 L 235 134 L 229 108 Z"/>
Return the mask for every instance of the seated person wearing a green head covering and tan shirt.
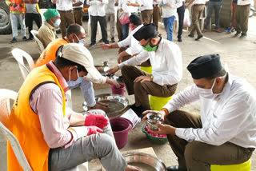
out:
<path id="1" fill-rule="evenodd" d="M 57 38 L 55 29 L 58 29 L 61 19 L 58 14 L 58 10 L 56 9 L 46 10 L 43 16 L 46 21 L 43 22 L 42 26 L 38 30 L 38 39 L 42 42 L 44 48 L 46 48 L 50 42 Z"/>

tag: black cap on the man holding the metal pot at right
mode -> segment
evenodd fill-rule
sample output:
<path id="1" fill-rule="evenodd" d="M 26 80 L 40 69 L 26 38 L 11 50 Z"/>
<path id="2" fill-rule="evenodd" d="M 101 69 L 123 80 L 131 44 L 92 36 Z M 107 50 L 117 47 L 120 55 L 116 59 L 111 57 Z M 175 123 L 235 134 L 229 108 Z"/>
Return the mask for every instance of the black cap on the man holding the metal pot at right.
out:
<path id="1" fill-rule="evenodd" d="M 218 54 L 209 54 L 195 58 L 186 69 L 190 71 L 194 79 L 213 76 L 222 70 L 220 56 Z"/>

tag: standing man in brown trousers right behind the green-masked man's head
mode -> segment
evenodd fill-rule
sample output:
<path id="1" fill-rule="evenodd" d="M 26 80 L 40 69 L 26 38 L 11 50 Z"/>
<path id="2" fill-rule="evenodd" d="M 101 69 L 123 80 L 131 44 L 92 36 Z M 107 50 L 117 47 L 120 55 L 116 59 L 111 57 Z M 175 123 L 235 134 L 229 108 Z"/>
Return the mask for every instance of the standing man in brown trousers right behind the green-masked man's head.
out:
<path id="1" fill-rule="evenodd" d="M 153 0 L 142 0 L 142 6 L 139 7 L 144 25 L 150 24 L 153 18 Z"/>

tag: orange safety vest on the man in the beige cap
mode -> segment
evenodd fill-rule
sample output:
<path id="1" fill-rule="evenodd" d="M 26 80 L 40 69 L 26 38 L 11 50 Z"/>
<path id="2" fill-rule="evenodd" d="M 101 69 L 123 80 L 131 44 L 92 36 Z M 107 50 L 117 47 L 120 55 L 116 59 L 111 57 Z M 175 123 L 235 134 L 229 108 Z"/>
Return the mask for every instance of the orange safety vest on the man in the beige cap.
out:
<path id="1" fill-rule="evenodd" d="M 48 154 L 50 147 L 46 144 L 42 133 L 39 117 L 30 107 L 30 96 L 40 85 L 55 83 L 62 91 L 62 112 L 65 116 L 66 99 L 64 91 L 58 82 L 56 75 L 47 66 L 38 67 L 30 72 L 14 101 L 10 113 L 10 124 L 8 128 L 17 137 L 31 169 L 34 171 L 48 170 Z M 22 170 L 14 151 L 7 142 L 7 165 L 8 171 Z"/>

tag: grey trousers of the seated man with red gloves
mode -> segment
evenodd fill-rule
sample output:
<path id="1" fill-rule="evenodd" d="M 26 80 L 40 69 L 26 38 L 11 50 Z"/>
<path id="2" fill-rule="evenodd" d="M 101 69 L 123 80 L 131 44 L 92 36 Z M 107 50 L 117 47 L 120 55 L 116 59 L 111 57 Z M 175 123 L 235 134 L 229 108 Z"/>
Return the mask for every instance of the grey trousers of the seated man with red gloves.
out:
<path id="1" fill-rule="evenodd" d="M 93 109 L 90 113 L 106 113 Z M 110 124 L 103 129 L 103 133 L 81 137 L 74 145 L 64 149 L 50 149 L 50 170 L 75 170 L 77 165 L 94 158 L 99 158 L 106 171 L 123 171 L 127 164 L 114 141 Z"/>

